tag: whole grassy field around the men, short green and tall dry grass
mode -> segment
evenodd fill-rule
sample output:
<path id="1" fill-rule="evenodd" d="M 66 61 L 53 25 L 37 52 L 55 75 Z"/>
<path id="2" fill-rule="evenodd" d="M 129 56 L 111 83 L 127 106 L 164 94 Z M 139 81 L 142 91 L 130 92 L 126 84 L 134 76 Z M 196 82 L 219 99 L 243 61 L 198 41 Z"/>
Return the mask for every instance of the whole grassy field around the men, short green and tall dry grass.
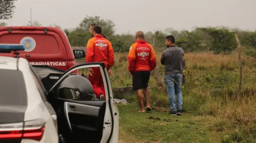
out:
<path id="1" fill-rule="evenodd" d="M 161 53 L 157 53 L 163 81 Z M 186 53 L 186 84 L 183 86 L 183 115 L 167 114 L 166 91 L 156 87 L 154 73 L 150 79 L 152 113 L 139 109 L 134 92 L 114 93 L 129 105 L 118 105 L 120 111 L 119 142 L 256 142 L 256 61 L 242 56 L 241 97 L 237 98 L 239 66 L 237 53 Z M 127 70 L 127 53 L 115 54 L 113 87 L 132 84 Z M 160 121 L 148 119 L 159 117 Z M 169 121 L 170 120 L 170 121 Z M 167 122 L 168 121 L 168 122 Z"/>

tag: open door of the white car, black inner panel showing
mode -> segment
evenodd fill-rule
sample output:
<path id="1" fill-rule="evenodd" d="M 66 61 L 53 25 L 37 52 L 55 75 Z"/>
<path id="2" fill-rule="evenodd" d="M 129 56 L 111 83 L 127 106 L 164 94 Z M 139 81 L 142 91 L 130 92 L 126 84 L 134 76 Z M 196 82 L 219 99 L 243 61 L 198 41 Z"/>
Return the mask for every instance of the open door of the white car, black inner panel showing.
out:
<path id="1" fill-rule="evenodd" d="M 76 98 L 79 95 L 75 89 L 63 92 L 65 95 L 61 95 L 61 98 L 58 96 L 53 100 L 55 101 L 53 106 L 58 116 L 58 130 L 66 137 L 67 141 L 110 142 L 113 140 L 113 133 L 118 136 L 119 118 L 114 116 L 118 116 L 119 113 L 114 107 L 110 79 L 104 63 L 84 63 L 67 70 L 50 88 L 48 98 L 51 99 L 51 96 L 58 94 L 59 85 L 67 77 L 72 76 L 70 73 L 73 70 L 80 70 L 83 73 L 82 77 L 88 78 L 88 68 L 99 68 L 106 100 L 81 101 Z"/>

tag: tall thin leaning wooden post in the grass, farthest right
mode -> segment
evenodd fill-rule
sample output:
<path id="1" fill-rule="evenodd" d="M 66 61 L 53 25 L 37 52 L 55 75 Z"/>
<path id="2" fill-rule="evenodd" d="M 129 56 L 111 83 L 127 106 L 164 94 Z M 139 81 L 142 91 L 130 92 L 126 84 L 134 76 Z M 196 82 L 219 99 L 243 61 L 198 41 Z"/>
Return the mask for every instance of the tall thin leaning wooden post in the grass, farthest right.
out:
<path id="1" fill-rule="evenodd" d="M 239 99 L 240 98 L 241 86 L 242 86 L 241 44 L 240 44 L 237 32 L 234 33 L 234 36 L 236 37 L 237 45 L 238 45 L 239 84 L 238 84 L 238 95 L 237 95 L 237 98 Z"/>

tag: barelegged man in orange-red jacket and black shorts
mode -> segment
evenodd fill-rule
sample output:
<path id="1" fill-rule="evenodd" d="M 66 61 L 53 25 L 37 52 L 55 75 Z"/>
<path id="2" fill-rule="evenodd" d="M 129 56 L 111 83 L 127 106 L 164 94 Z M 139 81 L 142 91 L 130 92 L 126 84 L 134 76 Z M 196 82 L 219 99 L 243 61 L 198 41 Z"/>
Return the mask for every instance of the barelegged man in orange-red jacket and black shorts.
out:
<path id="1" fill-rule="evenodd" d="M 150 107 L 150 91 L 147 89 L 150 80 L 150 71 L 154 70 L 156 62 L 156 54 L 153 47 L 144 39 L 142 31 L 136 33 L 136 42 L 130 47 L 128 60 L 129 71 L 133 75 L 133 90 L 137 90 L 137 98 L 140 104 L 138 112 L 144 113 L 143 93 L 146 100 L 146 111 L 151 111 Z"/>

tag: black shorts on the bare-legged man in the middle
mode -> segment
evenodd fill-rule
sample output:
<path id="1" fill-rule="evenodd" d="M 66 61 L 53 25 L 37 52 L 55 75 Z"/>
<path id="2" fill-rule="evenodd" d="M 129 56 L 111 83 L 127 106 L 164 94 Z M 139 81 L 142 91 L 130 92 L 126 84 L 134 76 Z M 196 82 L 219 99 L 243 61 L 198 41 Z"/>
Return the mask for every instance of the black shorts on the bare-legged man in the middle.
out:
<path id="1" fill-rule="evenodd" d="M 135 71 L 133 73 L 133 90 L 145 89 L 150 80 L 150 71 Z"/>

